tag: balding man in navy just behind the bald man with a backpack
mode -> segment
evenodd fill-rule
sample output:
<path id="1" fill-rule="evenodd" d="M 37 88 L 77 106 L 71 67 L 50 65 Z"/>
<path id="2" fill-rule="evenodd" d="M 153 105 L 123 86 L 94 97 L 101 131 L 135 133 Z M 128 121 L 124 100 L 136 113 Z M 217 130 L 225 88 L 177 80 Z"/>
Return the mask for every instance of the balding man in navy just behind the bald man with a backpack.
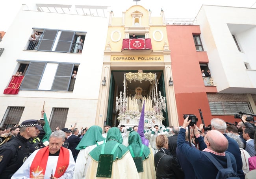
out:
<path id="1" fill-rule="evenodd" d="M 219 132 L 221 132 L 224 137 L 226 137 L 226 139 L 228 140 L 228 149 L 227 151 L 229 151 L 230 153 L 232 153 L 236 159 L 236 166 L 237 166 L 237 174 L 239 175 L 239 177 L 241 179 L 245 178 L 245 175 L 243 173 L 243 161 L 241 158 L 241 151 L 240 148 L 236 142 L 236 140 L 234 140 L 234 138 L 228 137 L 226 135 L 226 122 L 222 119 L 219 118 L 213 118 L 211 120 L 211 129 L 215 129 Z"/>

